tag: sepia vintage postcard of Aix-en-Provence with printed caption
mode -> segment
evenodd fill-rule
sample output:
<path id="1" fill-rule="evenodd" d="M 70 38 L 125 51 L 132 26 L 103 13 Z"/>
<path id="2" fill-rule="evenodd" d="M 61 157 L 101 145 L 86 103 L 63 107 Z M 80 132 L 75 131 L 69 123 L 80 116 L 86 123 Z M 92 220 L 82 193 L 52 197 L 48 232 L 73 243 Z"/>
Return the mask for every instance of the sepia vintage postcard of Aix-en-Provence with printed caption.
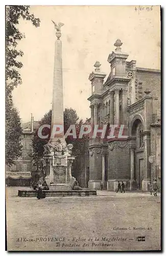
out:
<path id="1" fill-rule="evenodd" d="M 161 250 L 160 6 L 6 6 L 8 251 Z"/>

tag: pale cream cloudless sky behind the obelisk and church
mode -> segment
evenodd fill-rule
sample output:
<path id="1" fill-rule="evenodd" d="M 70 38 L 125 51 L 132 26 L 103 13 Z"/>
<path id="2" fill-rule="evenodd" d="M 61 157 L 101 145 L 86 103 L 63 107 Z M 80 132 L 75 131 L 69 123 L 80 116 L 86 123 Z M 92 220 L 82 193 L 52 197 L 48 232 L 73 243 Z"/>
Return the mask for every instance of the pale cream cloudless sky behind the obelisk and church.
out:
<path id="1" fill-rule="evenodd" d="M 148 6 L 149 8 L 151 6 Z M 138 9 L 138 6 L 136 6 Z M 20 19 L 25 34 L 18 49 L 24 55 L 20 69 L 22 84 L 14 89 L 13 101 L 22 122 L 40 120 L 52 108 L 55 29 L 51 19 L 64 23 L 61 28 L 63 66 L 63 105 L 73 108 L 80 118 L 90 117 L 89 74 L 94 63 L 109 75 L 108 55 L 117 38 L 122 51 L 136 67 L 160 69 L 160 8 L 136 10 L 135 6 L 31 6 L 40 18 L 40 27 Z M 106 78 L 107 78 L 106 76 Z"/>

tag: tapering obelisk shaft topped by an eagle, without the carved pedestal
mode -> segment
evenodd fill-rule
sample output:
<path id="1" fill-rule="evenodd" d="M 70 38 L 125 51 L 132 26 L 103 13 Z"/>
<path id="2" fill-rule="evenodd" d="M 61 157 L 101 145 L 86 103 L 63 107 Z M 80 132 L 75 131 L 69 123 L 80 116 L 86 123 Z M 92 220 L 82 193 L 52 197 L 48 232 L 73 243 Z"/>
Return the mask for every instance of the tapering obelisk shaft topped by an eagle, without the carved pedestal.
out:
<path id="1" fill-rule="evenodd" d="M 53 22 L 53 20 L 52 20 Z M 63 80 L 62 80 L 62 41 L 61 27 L 63 23 L 58 25 L 54 23 L 56 29 L 57 40 L 55 41 L 55 55 L 54 55 L 54 79 L 53 79 L 53 100 L 52 100 L 52 122 L 51 122 L 51 134 L 55 130 L 55 125 L 63 125 Z M 62 143 L 65 143 L 64 131 L 60 134 L 51 137 L 51 144 L 55 145 L 57 140 L 60 139 Z"/>

